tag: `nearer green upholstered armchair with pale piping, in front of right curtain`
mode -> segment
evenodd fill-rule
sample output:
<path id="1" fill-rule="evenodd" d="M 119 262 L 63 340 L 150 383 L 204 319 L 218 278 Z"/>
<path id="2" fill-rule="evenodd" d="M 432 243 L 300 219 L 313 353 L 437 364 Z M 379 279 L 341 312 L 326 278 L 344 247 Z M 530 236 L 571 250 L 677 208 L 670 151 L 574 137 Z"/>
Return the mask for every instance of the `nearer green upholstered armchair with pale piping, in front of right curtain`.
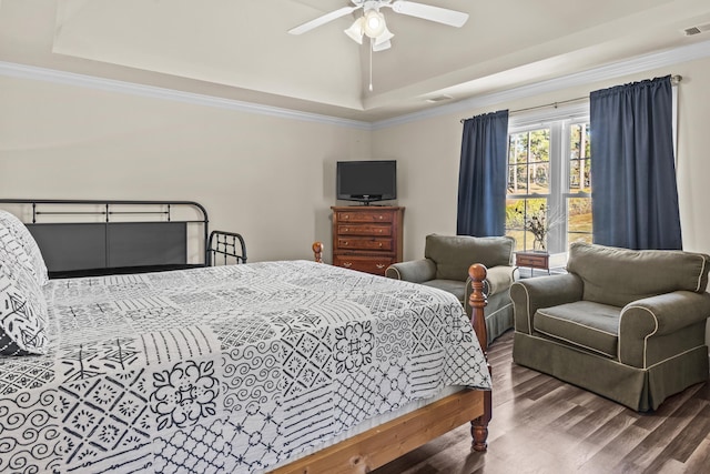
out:
<path id="1" fill-rule="evenodd" d="M 702 253 L 576 242 L 567 274 L 515 282 L 513 359 L 637 411 L 708 380 Z"/>

